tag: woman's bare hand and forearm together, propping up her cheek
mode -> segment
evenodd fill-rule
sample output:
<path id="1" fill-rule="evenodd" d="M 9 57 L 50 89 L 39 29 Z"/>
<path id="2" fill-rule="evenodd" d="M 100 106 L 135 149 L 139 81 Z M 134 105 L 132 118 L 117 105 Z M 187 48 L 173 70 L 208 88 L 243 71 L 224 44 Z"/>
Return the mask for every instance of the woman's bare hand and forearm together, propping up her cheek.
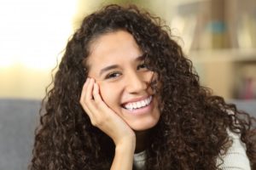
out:
<path id="1" fill-rule="evenodd" d="M 125 121 L 113 112 L 102 100 L 99 87 L 93 79 L 84 83 L 80 104 L 90 117 L 92 125 L 108 134 L 115 144 L 112 170 L 131 170 L 136 145 L 135 133 Z"/>

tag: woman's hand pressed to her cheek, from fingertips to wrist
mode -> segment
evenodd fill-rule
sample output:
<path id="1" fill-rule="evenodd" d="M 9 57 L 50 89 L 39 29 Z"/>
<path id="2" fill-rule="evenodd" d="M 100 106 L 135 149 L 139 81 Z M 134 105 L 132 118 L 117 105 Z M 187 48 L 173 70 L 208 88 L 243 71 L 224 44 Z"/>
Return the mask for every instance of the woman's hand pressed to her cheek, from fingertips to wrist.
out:
<path id="1" fill-rule="evenodd" d="M 100 128 L 113 139 L 114 144 L 130 143 L 135 147 L 135 133 L 131 127 L 118 116 L 102 100 L 98 84 L 92 78 L 87 78 L 82 90 L 80 104 L 90 117 L 93 126 Z"/>

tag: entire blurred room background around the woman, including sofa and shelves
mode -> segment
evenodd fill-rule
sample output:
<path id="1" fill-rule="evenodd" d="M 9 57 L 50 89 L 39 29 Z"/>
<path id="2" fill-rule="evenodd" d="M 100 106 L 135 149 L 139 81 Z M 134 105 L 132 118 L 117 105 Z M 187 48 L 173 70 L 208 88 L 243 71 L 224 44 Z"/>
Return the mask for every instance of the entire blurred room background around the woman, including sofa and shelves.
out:
<path id="1" fill-rule="evenodd" d="M 0 0 L 0 169 L 26 169 L 40 100 L 67 40 L 108 3 L 160 16 L 201 84 L 256 116 L 255 0 Z"/>

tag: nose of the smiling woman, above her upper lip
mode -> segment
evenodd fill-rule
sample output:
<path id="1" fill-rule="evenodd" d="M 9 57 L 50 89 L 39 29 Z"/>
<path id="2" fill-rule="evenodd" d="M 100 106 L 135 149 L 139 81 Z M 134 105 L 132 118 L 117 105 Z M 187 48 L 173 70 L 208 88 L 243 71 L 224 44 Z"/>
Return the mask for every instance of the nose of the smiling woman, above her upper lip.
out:
<path id="1" fill-rule="evenodd" d="M 134 73 L 126 78 L 126 90 L 130 94 L 137 94 L 148 88 L 148 81 L 142 74 Z"/>

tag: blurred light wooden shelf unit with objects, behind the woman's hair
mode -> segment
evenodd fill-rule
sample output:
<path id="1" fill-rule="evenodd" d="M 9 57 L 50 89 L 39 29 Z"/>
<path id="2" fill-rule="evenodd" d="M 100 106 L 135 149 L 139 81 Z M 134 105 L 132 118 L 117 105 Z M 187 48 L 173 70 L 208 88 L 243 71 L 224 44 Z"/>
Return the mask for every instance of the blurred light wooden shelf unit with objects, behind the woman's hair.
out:
<path id="1" fill-rule="evenodd" d="M 225 99 L 256 98 L 255 3 L 180 0 L 172 27 L 203 86 Z M 249 95 L 247 95 L 249 93 Z"/>

